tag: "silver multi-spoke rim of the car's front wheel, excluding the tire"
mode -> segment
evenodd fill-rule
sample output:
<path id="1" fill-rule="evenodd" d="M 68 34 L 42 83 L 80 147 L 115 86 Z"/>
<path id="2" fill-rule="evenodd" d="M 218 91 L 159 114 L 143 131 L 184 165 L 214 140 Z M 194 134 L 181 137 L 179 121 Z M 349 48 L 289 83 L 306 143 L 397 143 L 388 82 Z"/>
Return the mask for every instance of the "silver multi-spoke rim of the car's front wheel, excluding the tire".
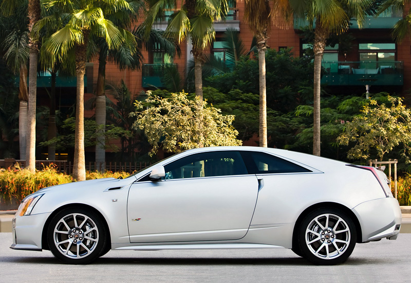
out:
<path id="1" fill-rule="evenodd" d="M 90 255 L 99 242 L 99 229 L 87 215 L 72 213 L 61 218 L 54 227 L 54 244 L 68 258 Z"/>

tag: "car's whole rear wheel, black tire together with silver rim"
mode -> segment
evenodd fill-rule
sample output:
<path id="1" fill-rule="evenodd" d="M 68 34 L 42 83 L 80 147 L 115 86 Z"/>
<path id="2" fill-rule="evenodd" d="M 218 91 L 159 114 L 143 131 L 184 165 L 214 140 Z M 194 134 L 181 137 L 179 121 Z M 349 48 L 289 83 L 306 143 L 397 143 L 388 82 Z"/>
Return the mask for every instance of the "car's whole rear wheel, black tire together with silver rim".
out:
<path id="1" fill-rule="evenodd" d="M 347 260 L 356 246 L 357 231 L 342 210 L 321 208 L 304 217 L 297 240 L 304 258 L 328 266 Z"/>

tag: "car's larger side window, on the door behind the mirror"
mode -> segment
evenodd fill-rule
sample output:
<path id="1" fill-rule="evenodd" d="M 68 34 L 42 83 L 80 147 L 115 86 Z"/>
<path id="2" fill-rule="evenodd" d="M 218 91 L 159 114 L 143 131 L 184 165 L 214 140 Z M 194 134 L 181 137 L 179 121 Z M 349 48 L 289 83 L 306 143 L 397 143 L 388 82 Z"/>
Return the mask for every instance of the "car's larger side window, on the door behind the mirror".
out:
<path id="1" fill-rule="evenodd" d="M 165 180 L 248 174 L 238 151 L 203 152 L 164 166 Z"/>

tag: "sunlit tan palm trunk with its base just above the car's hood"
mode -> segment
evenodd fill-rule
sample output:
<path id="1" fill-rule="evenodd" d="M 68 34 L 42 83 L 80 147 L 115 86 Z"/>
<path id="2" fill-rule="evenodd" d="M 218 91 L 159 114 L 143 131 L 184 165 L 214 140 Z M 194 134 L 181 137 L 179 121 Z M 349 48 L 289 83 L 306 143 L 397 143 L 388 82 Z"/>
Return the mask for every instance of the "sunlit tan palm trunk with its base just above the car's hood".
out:
<path id="1" fill-rule="evenodd" d="M 86 35 L 84 36 L 86 41 Z M 84 75 L 86 74 L 86 43 L 76 47 L 76 132 L 74 133 L 73 178 L 86 180 L 86 161 L 84 156 Z"/>

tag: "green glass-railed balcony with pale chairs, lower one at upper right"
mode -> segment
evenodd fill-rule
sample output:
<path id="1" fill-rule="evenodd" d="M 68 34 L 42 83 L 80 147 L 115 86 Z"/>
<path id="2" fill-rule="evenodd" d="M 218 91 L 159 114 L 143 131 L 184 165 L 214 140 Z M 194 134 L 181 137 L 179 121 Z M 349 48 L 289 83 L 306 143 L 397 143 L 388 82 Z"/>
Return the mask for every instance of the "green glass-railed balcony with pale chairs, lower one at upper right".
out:
<path id="1" fill-rule="evenodd" d="M 321 84 L 327 85 L 403 85 L 401 61 L 323 62 Z"/>

